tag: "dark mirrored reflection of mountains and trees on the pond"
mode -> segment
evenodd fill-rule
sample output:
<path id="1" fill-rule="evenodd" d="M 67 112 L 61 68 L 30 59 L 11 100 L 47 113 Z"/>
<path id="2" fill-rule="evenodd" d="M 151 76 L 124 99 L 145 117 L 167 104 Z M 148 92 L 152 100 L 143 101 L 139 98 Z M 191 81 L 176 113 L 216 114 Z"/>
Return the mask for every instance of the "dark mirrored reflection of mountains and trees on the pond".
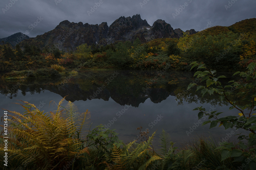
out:
<path id="1" fill-rule="evenodd" d="M 34 79 L 29 81 L 2 82 L 0 93 L 9 98 L 16 97 L 18 90 L 22 95 L 27 93 L 40 93 L 49 90 L 66 97 L 69 101 L 103 99 L 108 101 L 110 97 L 120 105 L 132 105 L 138 107 L 150 98 L 153 103 L 159 103 L 172 95 L 193 102 L 200 100 L 200 93 L 191 90 L 183 93 L 189 83 L 194 81 L 190 72 L 165 72 L 159 71 L 118 71 L 113 77 L 114 71 L 81 71 L 74 77 L 61 79 Z M 17 88 L 15 88 L 17 87 Z M 202 102 L 217 104 L 218 98 L 204 97 Z"/>

